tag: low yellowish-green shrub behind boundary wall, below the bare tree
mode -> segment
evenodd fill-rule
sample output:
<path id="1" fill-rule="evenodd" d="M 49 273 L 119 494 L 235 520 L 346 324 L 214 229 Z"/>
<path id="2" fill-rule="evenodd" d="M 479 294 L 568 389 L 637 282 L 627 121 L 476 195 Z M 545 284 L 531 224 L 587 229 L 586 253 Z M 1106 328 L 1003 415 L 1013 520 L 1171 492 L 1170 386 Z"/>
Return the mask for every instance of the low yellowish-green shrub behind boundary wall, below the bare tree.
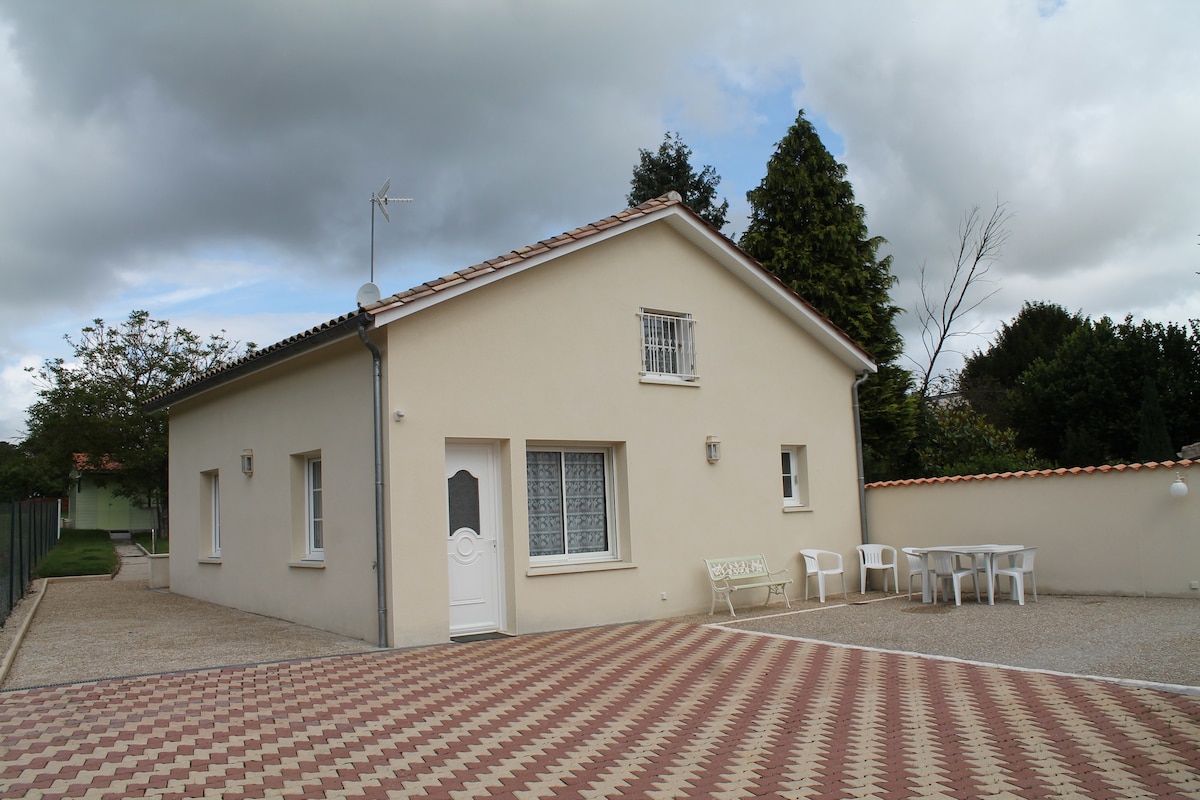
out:
<path id="1" fill-rule="evenodd" d="M 988 422 L 967 403 L 929 403 L 918 456 L 923 476 L 989 475 L 1045 469 L 1049 464 L 1016 444 L 1016 432 Z"/>

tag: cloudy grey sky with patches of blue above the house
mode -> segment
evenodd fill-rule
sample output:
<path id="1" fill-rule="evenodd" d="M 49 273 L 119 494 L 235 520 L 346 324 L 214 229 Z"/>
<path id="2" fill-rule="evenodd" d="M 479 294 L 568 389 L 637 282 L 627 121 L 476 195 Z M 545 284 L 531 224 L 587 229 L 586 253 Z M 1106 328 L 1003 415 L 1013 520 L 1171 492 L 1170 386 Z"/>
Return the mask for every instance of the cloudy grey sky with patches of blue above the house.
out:
<path id="1" fill-rule="evenodd" d="M 737 236 L 800 108 L 901 307 L 1007 203 L 958 347 L 1027 300 L 1200 317 L 1198 30 L 1192 0 L 0 0 L 0 439 L 94 318 L 265 345 L 352 311 L 385 179 L 385 294 L 619 211 L 666 131 Z"/>

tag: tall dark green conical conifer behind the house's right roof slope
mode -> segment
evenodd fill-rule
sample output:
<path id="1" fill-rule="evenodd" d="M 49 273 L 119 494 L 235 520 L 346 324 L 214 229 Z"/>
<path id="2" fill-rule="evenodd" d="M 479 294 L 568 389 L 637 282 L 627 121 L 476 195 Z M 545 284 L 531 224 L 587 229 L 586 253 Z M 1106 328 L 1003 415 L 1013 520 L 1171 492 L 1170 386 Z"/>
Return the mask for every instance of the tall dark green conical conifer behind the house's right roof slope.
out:
<path id="1" fill-rule="evenodd" d="M 911 467 L 916 402 L 912 377 L 896 366 L 904 343 L 900 308 L 884 243 L 870 236 L 846 167 L 826 150 L 802 110 L 776 145 L 762 182 L 746 193 L 750 222 L 740 246 L 866 349 L 880 372 L 863 384 L 859 405 L 868 480 Z"/>

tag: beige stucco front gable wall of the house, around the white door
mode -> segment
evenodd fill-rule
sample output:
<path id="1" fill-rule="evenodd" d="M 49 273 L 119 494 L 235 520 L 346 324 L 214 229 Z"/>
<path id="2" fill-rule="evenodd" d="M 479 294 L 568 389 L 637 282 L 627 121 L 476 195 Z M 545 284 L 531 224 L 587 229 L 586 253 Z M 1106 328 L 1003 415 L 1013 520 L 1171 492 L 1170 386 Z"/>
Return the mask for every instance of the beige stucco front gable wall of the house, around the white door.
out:
<path id="1" fill-rule="evenodd" d="M 698 386 L 640 381 L 642 307 L 697 319 Z M 386 331 L 389 410 L 404 411 L 388 422 L 397 644 L 446 636 L 448 440 L 499 443 L 510 632 L 706 610 L 706 557 L 764 552 L 773 569 L 792 571 L 792 594 L 803 593 L 802 547 L 836 549 L 851 563 L 859 541 L 853 372 L 666 225 L 506 277 Z M 716 464 L 704 458 L 708 435 L 722 443 Z M 529 441 L 619 445 L 624 569 L 529 567 Z M 785 513 L 780 447 L 793 444 L 808 447 L 811 510 Z"/>

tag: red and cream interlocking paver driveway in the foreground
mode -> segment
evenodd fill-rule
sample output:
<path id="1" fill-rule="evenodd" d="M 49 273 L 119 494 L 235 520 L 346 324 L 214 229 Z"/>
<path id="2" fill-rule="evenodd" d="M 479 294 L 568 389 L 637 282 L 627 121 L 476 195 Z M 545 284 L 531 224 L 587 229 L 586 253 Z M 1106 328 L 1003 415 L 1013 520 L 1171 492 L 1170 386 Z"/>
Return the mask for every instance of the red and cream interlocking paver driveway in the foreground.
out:
<path id="1" fill-rule="evenodd" d="M 678 621 L 0 694 L 5 798 L 1200 798 L 1200 698 Z"/>

